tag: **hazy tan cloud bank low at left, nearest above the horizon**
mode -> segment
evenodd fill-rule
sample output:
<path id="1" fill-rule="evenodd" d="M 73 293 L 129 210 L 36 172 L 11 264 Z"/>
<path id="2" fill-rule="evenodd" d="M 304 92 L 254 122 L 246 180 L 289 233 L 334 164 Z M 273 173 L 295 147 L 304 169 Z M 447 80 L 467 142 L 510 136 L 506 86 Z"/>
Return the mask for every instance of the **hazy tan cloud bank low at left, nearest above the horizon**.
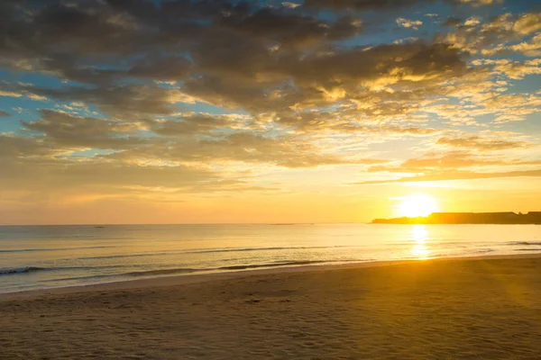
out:
<path id="1" fill-rule="evenodd" d="M 69 157 L 44 139 L 0 135 L 0 186 L 11 193 L 32 193 L 32 201 L 66 193 L 132 193 L 130 189 L 172 189 L 179 193 L 252 191 L 248 177 L 235 179 L 207 166 L 165 160 L 113 161 L 106 157 Z M 36 179 L 40 181 L 36 182 Z M 264 190 L 260 187 L 260 190 Z M 55 199 L 56 201 L 56 199 Z"/>

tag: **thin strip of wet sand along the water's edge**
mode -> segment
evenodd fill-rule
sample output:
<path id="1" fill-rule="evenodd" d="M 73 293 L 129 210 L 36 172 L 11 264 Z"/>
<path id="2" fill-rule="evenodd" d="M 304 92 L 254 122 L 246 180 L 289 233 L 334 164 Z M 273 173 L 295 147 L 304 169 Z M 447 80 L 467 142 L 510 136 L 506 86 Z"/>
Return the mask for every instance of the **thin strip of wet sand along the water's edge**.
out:
<path id="1" fill-rule="evenodd" d="M 517 255 L 487 255 L 487 256 L 472 256 L 472 257 L 435 257 L 435 258 L 419 258 L 419 259 L 404 259 L 404 260 L 381 260 L 381 261 L 366 261 L 353 262 L 339 265 L 303 265 L 303 266 L 277 266 L 272 268 L 252 269 L 252 270 L 234 270 L 228 272 L 210 272 L 198 273 L 189 275 L 161 275 L 133 280 L 119 280 L 108 283 L 96 284 L 80 284 L 61 287 L 29 289 L 14 291 L 8 293 L 0 293 L 0 302 L 9 302 L 14 300 L 26 300 L 40 298 L 50 295 L 66 295 L 73 293 L 94 293 L 107 291 L 128 291 L 137 289 L 151 289 L 159 287 L 169 287 L 186 284 L 209 283 L 220 280 L 242 279 L 252 276 L 263 275 L 281 275 L 295 273 L 311 273 L 344 269 L 361 269 L 370 267 L 383 266 L 400 266 L 407 264 L 416 264 L 424 262 L 453 262 L 453 261 L 478 261 L 478 260 L 505 260 L 505 259 L 528 259 L 541 258 L 541 253 L 534 254 L 517 254 Z"/>

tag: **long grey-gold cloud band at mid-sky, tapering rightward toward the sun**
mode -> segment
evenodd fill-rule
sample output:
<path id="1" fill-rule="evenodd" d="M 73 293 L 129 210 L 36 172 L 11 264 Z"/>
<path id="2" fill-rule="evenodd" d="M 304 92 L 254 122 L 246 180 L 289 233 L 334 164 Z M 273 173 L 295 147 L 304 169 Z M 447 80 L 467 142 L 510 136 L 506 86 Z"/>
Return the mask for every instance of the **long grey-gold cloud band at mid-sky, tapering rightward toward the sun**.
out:
<path id="1" fill-rule="evenodd" d="M 60 161 L 60 155 L 63 162 L 73 159 L 70 153 L 75 150 L 116 150 L 88 157 L 86 163 L 106 161 L 119 166 L 243 162 L 295 168 L 385 162 L 326 153 L 325 149 L 293 135 L 270 137 L 255 130 L 243 130 L 240 124 L 244 120 L 239 115 L 192 114 L 180 121 L 125 122 L 43 110 L 39 120 L 22 121 L 25 130 L 38 135 L 26 139 L 3 138 L 4 153 L 14 158 L 47 156 L 54 163 Z M 232 133 L 235 123 L 239 127 Z M 220 128 L 224 131 L 215 131 Z M 142 130 L 151 130 L 160 137 L 144 135 Z"/>

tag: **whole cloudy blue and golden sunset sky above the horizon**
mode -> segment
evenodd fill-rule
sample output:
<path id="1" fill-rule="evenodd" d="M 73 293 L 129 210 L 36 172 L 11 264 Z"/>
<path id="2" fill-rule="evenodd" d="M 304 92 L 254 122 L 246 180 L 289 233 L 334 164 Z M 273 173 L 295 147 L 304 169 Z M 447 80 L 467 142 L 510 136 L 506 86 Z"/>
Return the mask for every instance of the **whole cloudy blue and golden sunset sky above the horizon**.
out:
<path id="1" fill-rule="evenodd" d="M 3 0 L 0 223 L 541 211 L 531 0 Z"/>

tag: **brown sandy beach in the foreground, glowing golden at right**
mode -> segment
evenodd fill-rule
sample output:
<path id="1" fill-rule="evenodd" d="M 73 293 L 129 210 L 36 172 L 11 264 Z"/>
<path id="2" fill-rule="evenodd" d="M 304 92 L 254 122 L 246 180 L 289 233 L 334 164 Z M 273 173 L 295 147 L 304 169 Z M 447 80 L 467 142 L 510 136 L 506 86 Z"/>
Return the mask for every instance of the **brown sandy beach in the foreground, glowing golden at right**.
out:
<path id="1" fill-rule="evenodd" d="M 541 257 L 0 294 L 0 359 L 540 359 Z"/>

